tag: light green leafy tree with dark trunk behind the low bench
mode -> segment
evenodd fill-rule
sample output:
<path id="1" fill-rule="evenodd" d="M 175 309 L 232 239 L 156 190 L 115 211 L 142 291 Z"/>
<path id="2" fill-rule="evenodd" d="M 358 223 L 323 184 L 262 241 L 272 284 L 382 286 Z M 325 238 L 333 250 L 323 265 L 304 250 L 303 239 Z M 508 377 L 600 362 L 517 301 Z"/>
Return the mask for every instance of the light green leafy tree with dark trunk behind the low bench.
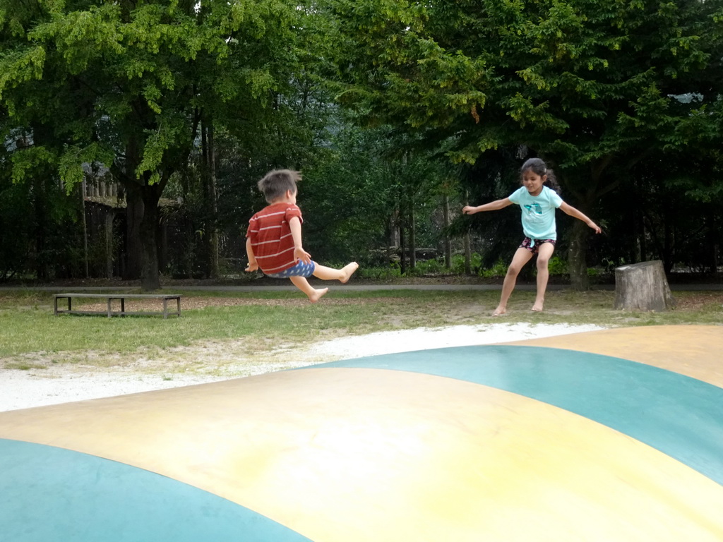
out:
<path id="1" fill-rule="evenodd" d="M 7 0 L 0 103 L 20 180 L 46 164 L 71 189 L 83 163 L 108 166 L 127 198 L 129 267 L 160 286 L 158 202 L 197 145 L 200 123 L 273 126 L 300 69 L 303 12 L 286 0 Z M 205 132 L 208 134 L 208 132 Z M 140 258 L 135 255 L 140 254 Z"/>

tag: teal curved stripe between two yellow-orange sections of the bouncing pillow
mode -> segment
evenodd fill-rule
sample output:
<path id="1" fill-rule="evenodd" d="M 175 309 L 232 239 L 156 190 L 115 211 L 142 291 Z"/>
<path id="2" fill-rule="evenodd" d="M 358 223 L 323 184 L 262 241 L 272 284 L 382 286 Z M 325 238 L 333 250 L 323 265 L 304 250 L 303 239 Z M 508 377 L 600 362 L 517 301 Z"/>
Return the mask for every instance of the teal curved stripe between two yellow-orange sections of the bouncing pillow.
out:
<path id="1" fill-rule="evenodd" d="M 579 414 L 723 485 L 723 389 L 621 358 L 534 346 L 461 346 L 304 367 L 390 369 L 484 384 Z"/>

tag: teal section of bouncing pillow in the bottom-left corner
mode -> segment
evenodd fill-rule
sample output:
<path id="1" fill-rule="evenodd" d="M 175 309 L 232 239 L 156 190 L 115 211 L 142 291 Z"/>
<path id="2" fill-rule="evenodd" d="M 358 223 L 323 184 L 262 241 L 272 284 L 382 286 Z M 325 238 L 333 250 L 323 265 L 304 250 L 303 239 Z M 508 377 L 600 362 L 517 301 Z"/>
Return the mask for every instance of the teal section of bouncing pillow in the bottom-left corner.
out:
<path id="1" fill-rule="evenodd" d="M 252 510 L 165 476 L 0 439 L 2 542 L 304 542 Z"/>

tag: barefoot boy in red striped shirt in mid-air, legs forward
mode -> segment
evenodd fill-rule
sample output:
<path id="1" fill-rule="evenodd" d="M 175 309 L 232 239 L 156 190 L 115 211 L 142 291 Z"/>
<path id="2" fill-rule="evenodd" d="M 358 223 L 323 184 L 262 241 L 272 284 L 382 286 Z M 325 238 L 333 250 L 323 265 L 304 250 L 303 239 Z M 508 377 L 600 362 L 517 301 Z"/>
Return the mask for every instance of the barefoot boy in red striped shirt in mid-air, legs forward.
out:
<path id="1" fill-rule="evenodd" d="M 324 267 L 312 261 L 311 254 L 301 245 L 301 210 L 296 206 L 296 183 L 301 180 L 298 171 L 280 169 L 270 171 L 259 181 L 267 207 L 249 220 L 246 233 L 247 271 L 262 270 L 271 278 L 288 278 L 309 301 L 316 303 L 329 288 L 312 288 L 307 277 L 346 283 L 359 264 L 351 262 L 341 269 Z"/>

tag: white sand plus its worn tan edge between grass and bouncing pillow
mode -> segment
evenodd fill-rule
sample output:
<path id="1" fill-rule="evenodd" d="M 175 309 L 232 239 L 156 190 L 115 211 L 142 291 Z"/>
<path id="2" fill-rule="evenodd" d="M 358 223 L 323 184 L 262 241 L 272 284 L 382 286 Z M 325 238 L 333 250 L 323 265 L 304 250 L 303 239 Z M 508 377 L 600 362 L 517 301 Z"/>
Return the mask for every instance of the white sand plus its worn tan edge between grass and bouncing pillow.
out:
<path id="1" fill-rule="evenodd" d="M 376 356 L 384 353 L 427 350 L 450 346 L 506 343 L 568 333 L 603 329 L 594 325 L 479 324 L 372 333 L 338 337 L 298 347 L 281 345 L 255 356 L 244 354 L 240 341 L 205 343 L 183 348 L 192 364 L 174 365 L 174 349 L 163 355 L 149 353 L 131 364 L 119 366 L 105 355 L 106 366 L 82 363 L 48 364 L 35 360 L 38 368 L 0 369 L 0 410 L 113 397 L 129 393 L 248 377 L 294 367 Z M 87 353 L 85 356 L 93 356 Z M 97 360 L 96 360 L 97 361 Z M 31 366 L 35 367 L 35 364 Z M 180 370 L 179 370 L 180 369 Z"/>

